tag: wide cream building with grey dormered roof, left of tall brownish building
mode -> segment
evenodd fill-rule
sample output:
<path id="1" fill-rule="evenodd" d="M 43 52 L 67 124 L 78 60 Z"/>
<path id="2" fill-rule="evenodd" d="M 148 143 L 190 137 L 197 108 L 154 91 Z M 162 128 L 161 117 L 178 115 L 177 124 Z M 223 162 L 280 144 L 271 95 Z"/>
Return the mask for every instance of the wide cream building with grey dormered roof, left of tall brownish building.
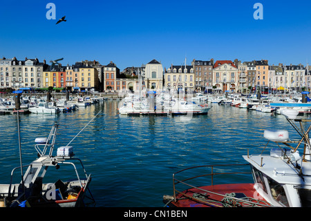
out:
<path id="1" fill-rule="evenodd" d="M 170 91 L 192 93 L 195 88 L 195 73 L 192 65 L 171 65 L 164 72 L 164 88 Z"/>

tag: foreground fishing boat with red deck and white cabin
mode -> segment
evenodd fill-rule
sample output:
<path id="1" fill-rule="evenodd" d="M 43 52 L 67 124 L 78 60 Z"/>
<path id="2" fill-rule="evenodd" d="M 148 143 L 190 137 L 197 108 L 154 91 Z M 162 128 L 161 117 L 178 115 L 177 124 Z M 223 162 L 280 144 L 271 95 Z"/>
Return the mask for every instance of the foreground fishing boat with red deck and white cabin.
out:
<path id="1" fill-rule="evenodd" d="M 311 206 L 311 120 L 298 118 L 299 112 L 295 110 L 284 110 L 282 114 L 299 139 L 290 139 L 287 130 L 265 130 L 263 136 L 267 145 L 261 154 L 250 155 L 247 151 L 243 164 L 180 170 L 173 174 L 173 195 L 164 195 L 164 204 L 171 207 Z M 270 142 L 275 146 L 270 147 Z M 254 182 L 244 182 L 251 179 L 245 177 L 249 173 L 245 166 L 250 166 Z M 202 171 L 196 174 L 197 170 Z M 242 175 L 243 182 L 222 183 L 224 177 L 228 180 L 230 176 L 238 175 Z M 207 181 L 209 186 L 202 185 Z"/>

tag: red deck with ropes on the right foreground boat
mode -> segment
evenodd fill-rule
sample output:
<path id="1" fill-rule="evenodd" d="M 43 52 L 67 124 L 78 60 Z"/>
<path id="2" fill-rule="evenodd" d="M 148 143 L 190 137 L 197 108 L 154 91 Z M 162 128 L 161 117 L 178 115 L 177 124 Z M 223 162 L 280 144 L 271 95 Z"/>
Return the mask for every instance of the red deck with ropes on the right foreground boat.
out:
<path id="1" fill-rule="evenodd" d="M 234 197 L 234 199 L 229 197 Z M 220 184 L 189 188 L 176 195 L 176 202 L 164 199 L 164 203 L 171 207 L 271 206 L 258 195 L 254 184 Z"/>

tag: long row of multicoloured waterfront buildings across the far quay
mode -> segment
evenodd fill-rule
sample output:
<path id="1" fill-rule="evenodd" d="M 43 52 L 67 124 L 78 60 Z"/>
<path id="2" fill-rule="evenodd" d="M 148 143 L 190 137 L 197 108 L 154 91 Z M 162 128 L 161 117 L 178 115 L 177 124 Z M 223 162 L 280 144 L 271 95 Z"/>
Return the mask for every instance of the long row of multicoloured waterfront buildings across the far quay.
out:
<path id="1" fill-rule="evenodd" d="M 97 61 L 75 62 L 73 65 L 50 66 L 37 58 L 0 59 L 0 91 L 15 89 L 70 91 L 138 91 L 169 89 L 178 91 L 237 91 L 245 93 L 258 88 L 309 90 L 310 69 L 302 64 L 268 64 L 267 60 L 241 62 L 232 60 L 192 60 L 191 65 L 164 68 L 157 60 L 141 67 L 123 71 L 113 62 L 102 65 Z"/>

